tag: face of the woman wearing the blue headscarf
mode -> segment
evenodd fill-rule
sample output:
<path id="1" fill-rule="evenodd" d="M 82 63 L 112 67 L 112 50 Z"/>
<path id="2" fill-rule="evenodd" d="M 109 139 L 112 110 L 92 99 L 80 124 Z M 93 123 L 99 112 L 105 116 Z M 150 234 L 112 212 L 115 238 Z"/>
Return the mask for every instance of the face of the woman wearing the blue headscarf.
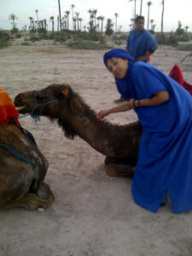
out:
<path id="1" fill-rule="evenodd" d="M 107 67 L 108 67 L 108 70 L 111 73 L 113 73 L 113 76 L 116 79 L 124 79 L 125 74 L 127 73 L 127 70 L 128 70 L 128 62 L 129 60 L 127 59 L 111 57 L 107 61 Z"/>

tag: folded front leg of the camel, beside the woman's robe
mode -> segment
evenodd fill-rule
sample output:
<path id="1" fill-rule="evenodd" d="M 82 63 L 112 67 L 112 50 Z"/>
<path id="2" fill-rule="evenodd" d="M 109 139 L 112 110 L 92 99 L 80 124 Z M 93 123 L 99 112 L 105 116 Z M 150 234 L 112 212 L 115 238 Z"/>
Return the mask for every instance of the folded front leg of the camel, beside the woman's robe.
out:
<path id="1" fill-rule="evenodd" d="M 135 165 L 120 162 L 120 160 L 106 158 L 106 172 L 110 177 L 130 177 L 133 178 L 135 172 Z"/>

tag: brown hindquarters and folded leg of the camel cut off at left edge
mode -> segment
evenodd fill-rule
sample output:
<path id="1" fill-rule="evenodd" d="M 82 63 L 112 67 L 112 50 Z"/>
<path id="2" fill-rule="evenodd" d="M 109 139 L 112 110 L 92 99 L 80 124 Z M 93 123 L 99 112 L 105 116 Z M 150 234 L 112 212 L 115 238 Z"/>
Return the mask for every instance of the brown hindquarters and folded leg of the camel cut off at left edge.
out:
<path id="1" fill-rule="evenodd" d="M 0 125 L 0 143 L 32 161 L 32 164 L 26 163 L 0 146 L 0 209 L 48 207 L 54 195 L 44 183 L 48 168 L 44 155 L 16 126 Z"/>

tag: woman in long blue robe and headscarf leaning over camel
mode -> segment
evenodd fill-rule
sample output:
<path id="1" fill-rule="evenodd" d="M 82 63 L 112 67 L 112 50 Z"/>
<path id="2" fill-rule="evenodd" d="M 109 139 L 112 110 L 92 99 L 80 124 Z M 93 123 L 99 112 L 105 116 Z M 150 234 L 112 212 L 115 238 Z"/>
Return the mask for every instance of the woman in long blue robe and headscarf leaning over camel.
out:
<path id="1" fill-rule="evenodd" d="M 134 109 L 143 126 L 132 195 L 138 205 L 157 212 L 168 193 L 172 211 L 192 209 L 192 98 L 156 67 L 134 62 L 124 49 L 112 49 L 104 63 L 126 102 L 97 113 Z"/>

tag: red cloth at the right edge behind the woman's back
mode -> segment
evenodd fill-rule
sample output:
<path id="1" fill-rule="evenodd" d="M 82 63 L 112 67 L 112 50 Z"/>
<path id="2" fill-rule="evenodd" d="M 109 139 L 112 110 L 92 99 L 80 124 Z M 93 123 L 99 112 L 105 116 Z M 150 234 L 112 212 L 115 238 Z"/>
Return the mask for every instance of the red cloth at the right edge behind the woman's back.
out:
<path id="1" fill-rule="evenodd" d="M 187 83 L 183 79 L 183 73 L 181 68 L 176 64 L 172 67 L 172 70 L 169 73 L 169 76 L 176 80 L 178 84 L 181 84 L 186 90 L 189 91 L 189 94 L 192 96 L 192 84 Z"/>

